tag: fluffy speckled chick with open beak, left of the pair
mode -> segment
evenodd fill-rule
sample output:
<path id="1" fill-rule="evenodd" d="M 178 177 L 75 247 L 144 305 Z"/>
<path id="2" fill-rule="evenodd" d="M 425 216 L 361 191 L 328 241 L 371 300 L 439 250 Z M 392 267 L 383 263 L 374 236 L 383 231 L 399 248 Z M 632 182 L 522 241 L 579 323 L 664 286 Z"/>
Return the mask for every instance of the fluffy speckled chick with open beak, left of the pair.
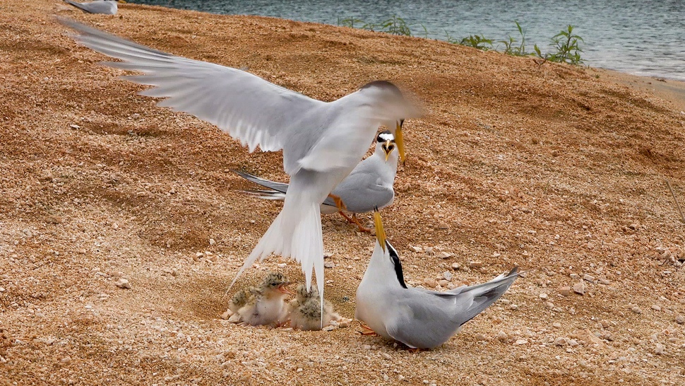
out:
<path id="1" fill-rule="evenodd" d="M 290 281 L 282 273 L 270 272 L 256 291 L 254 287 L 242 290 L 244 294 L 238 291 L 229 303 L 229 308 L 244 302 L 235 311 L 240 322 L 253 326 L 278 327 L 287 316 L 285 298 L 292 295 L 287 288 L 289 284 Z"/>

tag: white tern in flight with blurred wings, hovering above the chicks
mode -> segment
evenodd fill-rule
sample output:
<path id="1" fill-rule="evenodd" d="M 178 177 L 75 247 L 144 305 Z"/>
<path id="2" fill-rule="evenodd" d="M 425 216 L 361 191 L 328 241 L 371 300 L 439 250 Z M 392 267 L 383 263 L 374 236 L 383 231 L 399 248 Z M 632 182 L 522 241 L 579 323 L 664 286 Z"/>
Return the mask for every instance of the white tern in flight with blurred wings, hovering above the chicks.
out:
<path id="1" fill-rule="evenodd" d="M 290 175 L 285 204 L 239 269 L 240 274 L 272 252 L 302 264 L 307 288 L 312 272 L 323 305 L 323 237 L 319 206 L 357 166 L 379 126 L 395 135 L 404 160 L 403 119 L 419 117 L 411 98 L 388 81 L 367 83 L 359 90 L 323 102 L 265 81 L 239 69 L 157 51 L 75 21 L 61 23 L 78 31 L 86 47 L 123 62 L 117 69 L 140 71 L 126 76 L 154 86 L 141 94 L 166 98 L 159 105 L 188 112 L 227 131 L 249 151 L 283 151 Z M 339 197 L 331 197 L 343 209 Z M 229 288 L 230 288 L 229 287 Z"/>

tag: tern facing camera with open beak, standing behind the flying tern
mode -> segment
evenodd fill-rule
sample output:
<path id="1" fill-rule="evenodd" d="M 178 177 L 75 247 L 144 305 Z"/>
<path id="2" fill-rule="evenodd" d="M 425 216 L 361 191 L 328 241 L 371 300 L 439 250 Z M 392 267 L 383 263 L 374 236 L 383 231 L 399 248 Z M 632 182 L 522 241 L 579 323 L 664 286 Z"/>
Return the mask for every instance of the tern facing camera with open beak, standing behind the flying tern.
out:
<path id="1" fill-rule="evenodd" d="M 330 192 L 333 196 L 340 197 L 345 211 L 352 213 L 352 218 L 338 209 L 335 201 L 330 197 L 321 204 L 321 213 L 333 214 L 337 211 L 350 223 L 357 224 L 359 230 L 370 232 L 369 228 L 365 228 L 359 222 L 357 214 L 373 211 L 374 208 L 383 209 L 393 203 L 395 200 L 393 185 L 398 158 L 395 136 L 389 130 L 381 131 L 376 137 L 374 154 L 360 162 L 350 175 L 345 177 L 345 180 L 342 180 L 333 192 Z M 265 180 L 244 172 L 236 171 L 236 173 L 257 185 L 269 188 L 269 190 L 244 190 L 243 192 L 261 199 L 285 199 L 287 184 Z"/>

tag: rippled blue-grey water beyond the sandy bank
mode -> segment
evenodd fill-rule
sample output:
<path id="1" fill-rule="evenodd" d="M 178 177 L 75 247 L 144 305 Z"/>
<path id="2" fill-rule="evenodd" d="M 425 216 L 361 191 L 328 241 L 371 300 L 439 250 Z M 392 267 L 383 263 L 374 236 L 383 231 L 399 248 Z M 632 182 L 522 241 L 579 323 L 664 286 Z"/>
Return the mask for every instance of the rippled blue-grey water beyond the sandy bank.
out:
<path id="1" fill-rule="evenodd" d="M 132 0 L 211 13 L 274 16 L 337 24 L 338 18 L 379 22 L 397 15 L 414 35 L 459 40 L 484 35 L 518 39 L 514 21 L 526 31 L 526 47 L 549 51 L 550 37 L 568 24 L 585 43 L 590 66 L 685 81 L 685 0 Z M 424 31 L 425 27 L 427 31 Z M 501 47 L 501 45 L 500 45 Z"/>

